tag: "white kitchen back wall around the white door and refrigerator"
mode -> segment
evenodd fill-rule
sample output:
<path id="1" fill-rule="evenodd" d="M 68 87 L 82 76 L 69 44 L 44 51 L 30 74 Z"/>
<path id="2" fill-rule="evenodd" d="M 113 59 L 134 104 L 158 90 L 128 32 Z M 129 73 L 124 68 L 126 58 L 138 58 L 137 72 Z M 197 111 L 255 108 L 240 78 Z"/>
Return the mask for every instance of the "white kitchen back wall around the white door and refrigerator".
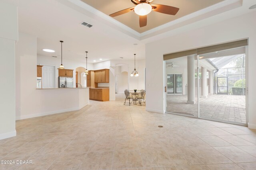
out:
<path id="1" fill-rule="evenodd" d="M 58 87 L 58 77 L 59 77 L 59 71 L 58 68 L 61 64 L 61 59 L 55 58 L 55 57 L 47 57 L 47 56 L 37 56 L 37 64 L 38 65 L 50 65 L 55 66 L 55 87 Z M 73 61 L 73 60 L 67 60 L 62 59 L 62 64 L 64 65 L 65 69 L 74 70 L 73 71 L 73 78 L 74 78 L 74 87 L 76 87 L 76 68 L 77 67 L 85 67 L 85 63 Z M 94 70 L 94 66 L 92 63 L 87 63 L 87 70 Z"/>

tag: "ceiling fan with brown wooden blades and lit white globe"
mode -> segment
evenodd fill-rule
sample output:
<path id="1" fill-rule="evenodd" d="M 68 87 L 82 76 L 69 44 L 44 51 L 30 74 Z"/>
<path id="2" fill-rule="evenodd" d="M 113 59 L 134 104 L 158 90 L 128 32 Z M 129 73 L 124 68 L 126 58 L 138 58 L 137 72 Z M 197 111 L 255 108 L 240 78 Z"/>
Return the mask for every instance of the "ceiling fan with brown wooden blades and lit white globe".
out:
<path id="1" fill-rule="evenodd" d="M 134 11 L 136 14 L 140 16 L 140 27 L 144 27 L 147 25 L 147 14 L 151 11 L 160 12 L 168 15 L 176 15 L 180 8 L 176 8 L 173 6 L 161 5 L 161 4 L 151 4 L 154 0 L 131 0 L 136 6 L 127 8 L 125 10 L 121 10 L 115 12 L 114 14 L 110 14 L 109 16 L 115 17 L 130 11 Z"/>

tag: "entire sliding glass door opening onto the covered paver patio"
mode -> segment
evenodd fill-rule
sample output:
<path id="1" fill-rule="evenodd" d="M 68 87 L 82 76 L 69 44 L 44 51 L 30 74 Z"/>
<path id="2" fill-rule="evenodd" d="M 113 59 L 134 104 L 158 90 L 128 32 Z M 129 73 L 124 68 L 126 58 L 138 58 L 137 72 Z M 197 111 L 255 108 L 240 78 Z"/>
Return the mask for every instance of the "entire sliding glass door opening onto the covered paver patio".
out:
<path id="1" fill-rule="evenodd" d="M 246 48 L 166 60 L 166 112 L 247 124 Z"/>

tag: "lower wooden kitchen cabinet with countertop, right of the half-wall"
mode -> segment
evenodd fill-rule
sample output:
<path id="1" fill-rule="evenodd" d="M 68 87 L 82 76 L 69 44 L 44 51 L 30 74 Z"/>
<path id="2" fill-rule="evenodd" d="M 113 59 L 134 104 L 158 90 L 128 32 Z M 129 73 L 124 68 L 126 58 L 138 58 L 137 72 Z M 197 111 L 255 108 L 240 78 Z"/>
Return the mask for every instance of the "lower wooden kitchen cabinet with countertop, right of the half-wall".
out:
<path id="1" fill-rule="evenodd" d="M 90 88 L 90 100 L 97 101 L 109 101 L 109 89 L 108 88 Z"/>

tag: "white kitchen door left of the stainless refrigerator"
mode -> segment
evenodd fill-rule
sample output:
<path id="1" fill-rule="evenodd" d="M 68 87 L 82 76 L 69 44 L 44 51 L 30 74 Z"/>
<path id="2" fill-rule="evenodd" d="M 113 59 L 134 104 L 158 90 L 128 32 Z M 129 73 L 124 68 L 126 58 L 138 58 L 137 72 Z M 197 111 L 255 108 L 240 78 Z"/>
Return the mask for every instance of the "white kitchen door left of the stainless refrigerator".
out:
<path id="1" fill-rule="evenodd" d="M 43 66 L 42 68 L 42 88 L 55 88 L 55 66 Z"/>

